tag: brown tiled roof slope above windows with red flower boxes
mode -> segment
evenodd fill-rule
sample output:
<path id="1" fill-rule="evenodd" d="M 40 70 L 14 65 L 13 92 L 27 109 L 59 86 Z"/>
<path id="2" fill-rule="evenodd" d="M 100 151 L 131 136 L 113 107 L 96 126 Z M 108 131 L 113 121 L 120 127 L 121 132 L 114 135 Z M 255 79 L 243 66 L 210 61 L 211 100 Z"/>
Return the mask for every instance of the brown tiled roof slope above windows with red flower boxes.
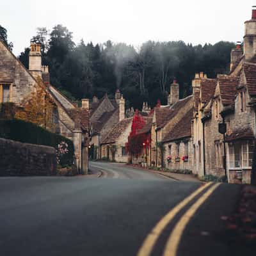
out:
<path id="1" fill-rule="evenodd" d="M 191 120 L 193 118 L 193 108 L 182 116 L 177 124 L 163 138 L 163 142 L 180 140 L 191 137 Z"/>

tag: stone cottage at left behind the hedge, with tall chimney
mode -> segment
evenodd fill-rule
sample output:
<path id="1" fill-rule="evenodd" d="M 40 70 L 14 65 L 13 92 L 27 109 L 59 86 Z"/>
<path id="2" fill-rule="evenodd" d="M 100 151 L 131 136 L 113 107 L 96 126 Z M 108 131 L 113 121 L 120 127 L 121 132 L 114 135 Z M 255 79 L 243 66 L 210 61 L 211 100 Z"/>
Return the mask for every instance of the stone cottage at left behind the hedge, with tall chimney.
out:
<path id="1" fill-rule="evenodd" d="M 48 67 L 42 66 L 41 45 L 31 42 L 29 70 L 0 41 L 0 103 L 13 102 L 23 106 L 33 93 L 43 88 L 42 97 L 50 97 L 52 109 L 51 131 L 74 142 L 76 164 L 80 172 L 88 172 L 89 102 L 84 99 L 82 108 L 76 108 L 50 84 Z M 46 127 L 50 129 L 49 127 Z"/>

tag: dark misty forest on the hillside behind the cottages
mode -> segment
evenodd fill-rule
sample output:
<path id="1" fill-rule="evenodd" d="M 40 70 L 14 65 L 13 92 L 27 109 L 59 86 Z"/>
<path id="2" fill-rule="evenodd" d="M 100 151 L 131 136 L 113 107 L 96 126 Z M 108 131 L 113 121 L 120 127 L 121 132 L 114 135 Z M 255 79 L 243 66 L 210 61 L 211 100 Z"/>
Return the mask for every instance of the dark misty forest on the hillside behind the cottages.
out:
<path id="1" fill-rule="evenodd" d="M 38 28 L 34 36 L 42 44 L 42 60 L 49 65 L 51 84 L 71 100 L 113 97 L 116 88 L 124 94 L 128 106 L 150 106 L 157 99 L 166 104 L 170 84 L 176 77 L 180 97 L 191 93 L 191 79 L 203 71 L 208 77 L 227 73 L 232 42 L 214 45 L 192 45 L 182 41 L 148 41 L 136 49 L 125 43 L 75 44 L 72 32 L 62 25 L 51 31 Z M 20 53 L 20 61 L 28 68 L 29 48 Z"/>

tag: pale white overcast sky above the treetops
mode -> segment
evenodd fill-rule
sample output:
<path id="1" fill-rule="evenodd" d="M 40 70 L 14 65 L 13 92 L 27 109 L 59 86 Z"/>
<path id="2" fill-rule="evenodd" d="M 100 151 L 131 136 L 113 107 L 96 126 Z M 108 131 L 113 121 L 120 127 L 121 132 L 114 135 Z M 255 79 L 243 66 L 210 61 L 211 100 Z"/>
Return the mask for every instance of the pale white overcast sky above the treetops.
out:
<path id="1" fill-rule="evenodd" d="M 29 46 L 36 28 L 63 24 L 76 44 L 125 42 L 138 47 L 147 40 L 184 40 L 214 44 L 241 41 L 244 21 L 255 0 L 0 0 L 0 24 L 18 55 Z"/>

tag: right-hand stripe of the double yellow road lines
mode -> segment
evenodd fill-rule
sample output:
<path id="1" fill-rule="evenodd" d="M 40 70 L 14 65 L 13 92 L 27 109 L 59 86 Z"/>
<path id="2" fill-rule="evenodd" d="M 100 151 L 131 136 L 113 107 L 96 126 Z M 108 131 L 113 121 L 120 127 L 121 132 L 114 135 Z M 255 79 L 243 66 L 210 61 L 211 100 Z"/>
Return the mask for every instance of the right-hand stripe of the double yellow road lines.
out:
<path id="1" fill-rule="evenodd" d="M 175 256 L 177 255 L 177 249 L 179 246 L 180 239 L 182 237 L 182 233 L 188 224 L 189 220 L 191 220 L 191 217 L 195 214 L 195 212 L 198 210 L 200 205 L 204 204 L 205 200 L 211 196 L 213 191 L 220 186 L 220 183 L 215 184 L 212 186 L 207 192 L 204 193 L 196 202 L 193 204 L 188 211 L 184 213 L 184 215 L 180 218 L 178 223 L 175 225 L 172 234 L 168 238 L 168 241 L 166 243 L 165 249 L 164 249 L 164 256 Z"/>

